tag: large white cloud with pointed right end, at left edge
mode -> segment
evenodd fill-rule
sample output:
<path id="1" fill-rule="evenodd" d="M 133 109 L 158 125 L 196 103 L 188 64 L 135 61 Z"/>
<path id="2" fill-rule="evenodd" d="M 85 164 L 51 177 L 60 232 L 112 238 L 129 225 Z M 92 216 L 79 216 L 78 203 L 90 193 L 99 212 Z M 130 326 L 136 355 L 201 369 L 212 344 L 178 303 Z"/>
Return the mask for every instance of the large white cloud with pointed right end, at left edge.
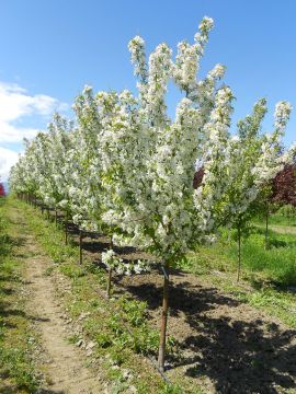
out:
<path id="1" fill-rule="evenodd" d="M 30 95 L 15 83 L 0 81 L 0 143 L 33 138 L 39 130 L 25 126 L 29 117 L 46 120 L 53 112 L 66 108 L 66 104 L 54 97 Z"/>

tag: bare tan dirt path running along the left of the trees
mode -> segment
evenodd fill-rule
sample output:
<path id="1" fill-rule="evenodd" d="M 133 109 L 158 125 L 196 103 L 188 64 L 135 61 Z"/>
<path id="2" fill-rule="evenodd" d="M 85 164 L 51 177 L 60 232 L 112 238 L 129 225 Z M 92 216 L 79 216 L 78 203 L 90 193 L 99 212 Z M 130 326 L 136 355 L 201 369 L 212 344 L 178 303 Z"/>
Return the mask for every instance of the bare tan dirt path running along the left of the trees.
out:
<path id="1" fill-rule="evenodd" d="M 18 210 L 11 211 L 15 224 L 25 225 Z M 39 393 L 99 394 L 103 393 L 100 376 L 93 375 L 84 363 L 84 355 L 67 341 L 65 311 L 60 308 L 50 276 L 46 268 L 50 259 L 42 253 L 33 235 L 24 232 L 25 291 L 27 312 L 33 316 L 34 328 L 41 335 L 43 361 L 39 368 L 46 380 Z"/>

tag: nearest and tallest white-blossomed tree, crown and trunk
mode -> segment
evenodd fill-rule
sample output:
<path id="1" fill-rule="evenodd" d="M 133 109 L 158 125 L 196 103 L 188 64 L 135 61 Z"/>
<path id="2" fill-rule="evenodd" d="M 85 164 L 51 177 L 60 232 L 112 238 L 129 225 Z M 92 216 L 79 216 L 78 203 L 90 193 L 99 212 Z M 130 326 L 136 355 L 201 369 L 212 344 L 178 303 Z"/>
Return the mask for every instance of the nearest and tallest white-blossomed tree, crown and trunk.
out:
<path id="1" fill-rule="evenodd" d="M 170 267 L 215 229 L 212 204 L 220 199 L 224 148 L 229 138 L 232 93 L 218 89 L 224 68 L 196 80 L 213 21 L 205 18 L 193 46 L 181 43 L 175 62 L 171 49 L 159 45 L 146 62 L 140 37 L 129 43 L 139 95 L 124 91 L 98 94 L 104 119 L 101 138 L 103 216 L 116 229 L 114 241 L 152 253 L 164 270 L 159 368 L 164 368 Z M 168 83 L 185 93 L 175 118 L 167 112 Z M 218 148 L 217 148 L 218 147 Z M 205 176 L 193 188 L 196 162 Z M 218 162 L 218 164 L 217 164 Z M 212 172 L 212 170 L 214 170 Z M 216 193 L 216 188 L 219 193 Z M 109 258 L 114 258 L 110 252 Z"/>

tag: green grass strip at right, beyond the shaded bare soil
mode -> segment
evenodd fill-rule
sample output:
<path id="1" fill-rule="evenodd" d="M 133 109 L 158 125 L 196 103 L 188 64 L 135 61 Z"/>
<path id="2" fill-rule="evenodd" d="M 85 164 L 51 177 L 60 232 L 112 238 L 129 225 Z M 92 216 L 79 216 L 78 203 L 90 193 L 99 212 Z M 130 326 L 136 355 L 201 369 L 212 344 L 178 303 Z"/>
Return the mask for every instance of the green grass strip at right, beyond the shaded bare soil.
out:
<path id="1" fill-rule="evenodd" d="M 213 246 L 190 254 L 193 273 L 203 280 L 296 327 L 296 235 L 270 230 L 264 250 L 264 230 L 255 228 L 242 241 L 242 280 L 237 283 L 238 247 L 226 232 Z"/>

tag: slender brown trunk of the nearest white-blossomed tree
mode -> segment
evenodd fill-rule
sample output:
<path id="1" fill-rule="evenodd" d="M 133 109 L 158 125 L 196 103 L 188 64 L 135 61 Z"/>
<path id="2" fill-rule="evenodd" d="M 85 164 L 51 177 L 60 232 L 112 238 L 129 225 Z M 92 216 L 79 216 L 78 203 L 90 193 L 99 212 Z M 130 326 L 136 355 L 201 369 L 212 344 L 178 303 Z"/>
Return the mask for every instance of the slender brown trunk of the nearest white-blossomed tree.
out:
<path id="1" fill-rule="evenodd" d="M 167 268 L 167 266 L 164 267 Z M 168 310 L 169 310 L 169 283 L 170 283 L 169 276 L 167 276 L 164 271 L 162 312 L 161 312 L 159 352 L 158 352 L 158 367 L 162 372 L 164 372 L 164 359 L 166 359 L 166 339 L 167 339 Z"/>

